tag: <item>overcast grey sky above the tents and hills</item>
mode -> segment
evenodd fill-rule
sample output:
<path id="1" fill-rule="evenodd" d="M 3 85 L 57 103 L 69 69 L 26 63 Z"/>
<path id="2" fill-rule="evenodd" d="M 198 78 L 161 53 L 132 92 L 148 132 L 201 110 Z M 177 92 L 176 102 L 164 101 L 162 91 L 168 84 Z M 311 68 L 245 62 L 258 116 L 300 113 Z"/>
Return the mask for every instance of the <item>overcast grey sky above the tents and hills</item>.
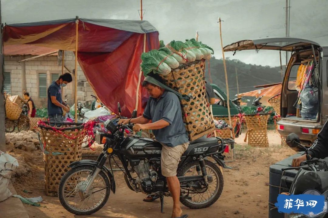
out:
<path id="1" fill-rule="evenodd" d="M 290 37 L 328 45 L 328 0 L 290 0 Z M 285 36 L 285 0 L 143 0 L 144 20 L 159 31 L 159 39 L 195 38 L 222 58 L 218 17 L 223 46 L 245 39 Z M 139 0 L 1 0 L 2 22 L 7 24 L 64 18 L 138 20 Z M 283 53 L 285 55 L 285 53 Z M 278 66 L 277 51 L 242 51 L 225 57 L 243 62 Z M 283 57 L 283 63 L 285 58 Z"/>

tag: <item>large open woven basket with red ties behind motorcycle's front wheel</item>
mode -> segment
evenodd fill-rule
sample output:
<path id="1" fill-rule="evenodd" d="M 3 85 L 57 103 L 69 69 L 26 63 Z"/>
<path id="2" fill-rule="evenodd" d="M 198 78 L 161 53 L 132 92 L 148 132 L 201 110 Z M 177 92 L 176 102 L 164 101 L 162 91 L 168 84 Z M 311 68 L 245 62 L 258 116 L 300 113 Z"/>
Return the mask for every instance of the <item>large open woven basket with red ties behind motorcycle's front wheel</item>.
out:
<path id="1" fill-rule="evenodd" d="M 79 124 L 71 123 L 70 125 Z M 45 189 L 48 196 L 58 195 L 59 181 L 69 171 L 68 165 L 82 159 L 81 144 L 87 134 L 83 126 L 60 127 L 57 129 L 61 129 L 61 132 L 69 137 L 78 137 L 71 140 L 53 131 L 52 127 L 39 125 L 38 131 L 41 133 L 41 141 L 42 143 L 46 142 L 45 150 L 50 152 L 43 155 L 45 161 Z M 63 154 L 53 155 L 51 152 L 61 152 Z"/>

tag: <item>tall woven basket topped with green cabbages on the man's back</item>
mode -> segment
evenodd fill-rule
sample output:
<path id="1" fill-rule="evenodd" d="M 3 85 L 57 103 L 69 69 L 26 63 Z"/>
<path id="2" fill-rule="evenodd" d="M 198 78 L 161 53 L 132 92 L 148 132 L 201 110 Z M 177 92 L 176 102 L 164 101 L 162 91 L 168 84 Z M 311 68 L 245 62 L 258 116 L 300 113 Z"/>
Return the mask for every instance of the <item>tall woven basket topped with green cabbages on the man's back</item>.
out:
<path id="1" fill-rule="evenodd" d="M 196 140 L 214 131 L 204 77 L 205 59 L 211 59 L 213 49 L 192 39 L 185 43 L 172 41 L 165 47 L 147 53 L 141 56 L 144 75 L 158 73 L 166 86 L 189 97 L 180 100 L 189 140 Z M 152 61 L 147 58 L 150 56 Z"/>

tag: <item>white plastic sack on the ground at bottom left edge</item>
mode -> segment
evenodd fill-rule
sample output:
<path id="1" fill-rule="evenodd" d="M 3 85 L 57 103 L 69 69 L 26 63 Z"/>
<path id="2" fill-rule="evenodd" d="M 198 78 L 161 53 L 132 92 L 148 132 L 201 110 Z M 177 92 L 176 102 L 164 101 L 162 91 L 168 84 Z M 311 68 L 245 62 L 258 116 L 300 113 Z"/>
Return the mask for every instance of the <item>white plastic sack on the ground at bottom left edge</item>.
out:
<path id="1" fill-rule="evenodd" d="M 10 176 L 18 167 L 17 159 L 0 151 L 0 202 L 9 198 L 12 193 L 8 189 Z"/>

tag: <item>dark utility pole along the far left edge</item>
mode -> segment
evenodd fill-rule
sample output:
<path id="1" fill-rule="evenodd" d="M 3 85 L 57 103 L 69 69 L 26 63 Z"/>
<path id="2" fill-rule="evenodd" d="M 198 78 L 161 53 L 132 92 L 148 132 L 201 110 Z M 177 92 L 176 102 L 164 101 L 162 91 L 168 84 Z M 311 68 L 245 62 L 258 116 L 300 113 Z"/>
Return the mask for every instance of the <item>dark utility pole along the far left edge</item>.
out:
<path id="1" fill-rule="evenodd" d="M 1 1 L 0 1 L 0 24 L 1 24 Z M 2 29 L 0 34 L 0 150 L 6 152 L 6 133 L 5 133 L 5 97 L 4 97 L 4 74 L 3 74 L 3 49 L 2 49 Z"/>

